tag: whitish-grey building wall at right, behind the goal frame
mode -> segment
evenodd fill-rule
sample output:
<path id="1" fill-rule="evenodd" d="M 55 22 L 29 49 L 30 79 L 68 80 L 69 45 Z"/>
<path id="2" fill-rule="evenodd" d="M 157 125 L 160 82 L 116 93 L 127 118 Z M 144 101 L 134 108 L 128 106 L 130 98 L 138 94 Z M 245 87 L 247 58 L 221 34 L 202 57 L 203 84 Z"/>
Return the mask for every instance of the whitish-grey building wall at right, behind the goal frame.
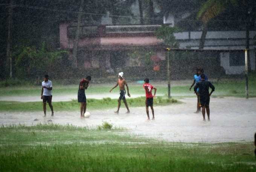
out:
<path id="1" fill-rule="evenodd" d="M 180 48 L 198 49 L 202 32 L 191 31 L 176 33 L 176 39 L 180 40 Z M 256 31 L 250 31 L 250 65 L 251 70 L 256 69 L 256 46 L 253 37 Z M 245 31 L 208 31 L 206 35 L 204 49 L 245 49 Z M 221 53 L 221 66 L 226 74 L 241 74 L 244 66 L 230 66 L 229 53 Z M 243 57 L 242 57 L 243 58 Z"/>

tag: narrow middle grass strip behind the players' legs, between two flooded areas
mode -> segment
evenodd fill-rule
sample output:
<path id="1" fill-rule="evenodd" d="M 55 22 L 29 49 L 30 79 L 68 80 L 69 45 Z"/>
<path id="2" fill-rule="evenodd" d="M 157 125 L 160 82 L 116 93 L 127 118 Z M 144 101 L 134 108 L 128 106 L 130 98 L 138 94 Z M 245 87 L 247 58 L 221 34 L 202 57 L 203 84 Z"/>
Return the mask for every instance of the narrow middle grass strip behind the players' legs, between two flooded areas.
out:
<path id="1" fill-rule="evenodd" d="M 137 97 L 126 100 L 129 107 L 145 106 L 145 97 Z M 170 105 L 173 103 L 179 103 L 175 99 L 165 99 L 162 97 L 156 97 L 154 99 L 154 105 Z M 52 102 L 54 111 L 78 111 L 80 103 L 77 100 L 69 102 Z M 0 112 L 2 111 L 42 111 L 42 102 L 6 102 L 0 101 Z M 110 99 L 109 97 L 104 99 L 87 99 L 87 109 L 109 109 L 117 107 L 117 99 Z M 125 107 L 123 101 L 121 107 Z M 47 105 L 47 108 L 48 105 Z"/>

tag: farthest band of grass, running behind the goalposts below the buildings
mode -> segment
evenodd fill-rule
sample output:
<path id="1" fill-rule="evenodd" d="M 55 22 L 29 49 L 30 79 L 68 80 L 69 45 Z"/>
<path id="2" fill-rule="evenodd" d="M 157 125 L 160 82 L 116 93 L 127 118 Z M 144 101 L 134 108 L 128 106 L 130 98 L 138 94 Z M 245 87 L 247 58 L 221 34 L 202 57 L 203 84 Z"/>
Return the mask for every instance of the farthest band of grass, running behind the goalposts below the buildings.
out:
<path id="1" fill-rule="evenodd" d="M 251 73 L 248 80 L 248 89 L 249 96 L 256 96 L 256 73 Z M 177 81 L 171 81 L 177 82 Z M 192 84 L 191 82 L 179 82 L 181 86 L 175 84 L 171 87 L 171 96 L 194 96 L 193 91 L 189 91 L 189 87 Z M 235 97 L 245 97 L 245 79 L 236 78 L 236 79 L 226 79 L 222 78 L 220 81 L 212 81 L 215 86 L 215 96 L 235 96 Z M 107 84 L 90 84 L 90 87 L 85 91 L 88 96 L 90 94 L 108 94 L 109 90 L 113 88 L 116 83 L 107 83 Z M 152 82 L 152 84 L 157 88 L 157 95 L 167 96 L 168 88 L 167 82 Z M 23 85 L 22 86 L 9 86 L 0 88 L 0 96 L 40 96 L 41 86 L 31 86 Z M 134 82 L 128 83 L 130 94 L 145 94 L 142 84 L 137 84 Z M 54 84 L 53 81 L 53 96 L 55 95 L 70 95 L 77 94 L 78 85 L 60 85 Z M 113 94 L 118 94 L 119 89 L 116 88 L 113 90 Z"/>

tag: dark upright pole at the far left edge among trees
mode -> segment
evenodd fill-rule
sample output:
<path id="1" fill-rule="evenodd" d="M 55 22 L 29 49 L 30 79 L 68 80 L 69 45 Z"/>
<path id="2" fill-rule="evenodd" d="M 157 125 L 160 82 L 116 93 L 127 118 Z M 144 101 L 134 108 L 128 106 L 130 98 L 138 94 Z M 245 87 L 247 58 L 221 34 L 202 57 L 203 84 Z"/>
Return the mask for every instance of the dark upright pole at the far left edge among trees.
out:
<path id="1" fill-rule="evenodd" d="M 8 37 L 7 37 L 7 48 L 6 48 L 6 69 L 10 69 L 10 78 L 12 78 L 12 36 L 11 36 L 11 29 L 12 29 L 12 13 L 13 13 L 13 0 L 10 0 L 9 4 L 9 15 L 8 15 Z M 8 66 L 9 60 L 9 66 Z"/>

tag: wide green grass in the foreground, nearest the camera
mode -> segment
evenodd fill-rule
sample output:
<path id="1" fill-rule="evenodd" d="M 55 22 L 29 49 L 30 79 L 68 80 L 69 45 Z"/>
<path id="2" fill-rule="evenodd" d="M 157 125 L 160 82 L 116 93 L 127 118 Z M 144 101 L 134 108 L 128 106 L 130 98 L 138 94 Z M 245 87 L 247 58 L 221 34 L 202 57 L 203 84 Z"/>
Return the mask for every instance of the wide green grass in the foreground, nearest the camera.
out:
<path id="1" fill-rule="evenodd" d="M 250 172 L 256 169 L 252 142 L 173 143 L 124 132 L 56 124 L 2 126 L 0 171 Z"/>

